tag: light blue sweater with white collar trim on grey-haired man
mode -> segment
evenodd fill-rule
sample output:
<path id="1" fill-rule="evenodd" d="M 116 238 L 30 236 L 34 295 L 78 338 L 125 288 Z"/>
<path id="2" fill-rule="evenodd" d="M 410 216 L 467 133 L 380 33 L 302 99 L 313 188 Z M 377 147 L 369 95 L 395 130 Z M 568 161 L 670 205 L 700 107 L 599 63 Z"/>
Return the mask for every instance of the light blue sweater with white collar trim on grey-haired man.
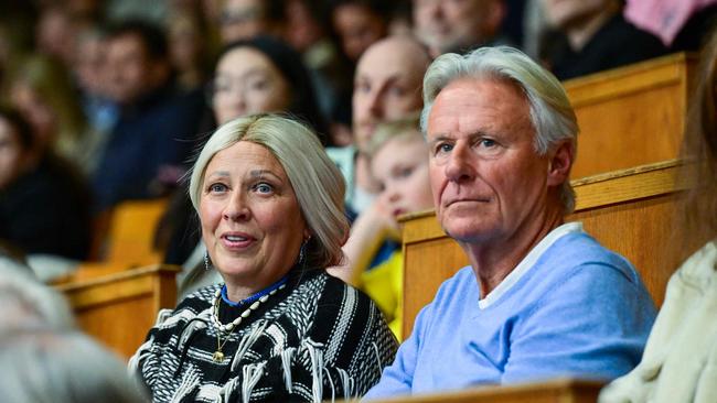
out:
<path id="1" fill-rule="evenodd" d="M 471 266 L 446 281 L 365 397 L 614 379 L 640 362 L 656 314 L 632 265 L 577 224 L 550 232 L 479 299 Z"/>

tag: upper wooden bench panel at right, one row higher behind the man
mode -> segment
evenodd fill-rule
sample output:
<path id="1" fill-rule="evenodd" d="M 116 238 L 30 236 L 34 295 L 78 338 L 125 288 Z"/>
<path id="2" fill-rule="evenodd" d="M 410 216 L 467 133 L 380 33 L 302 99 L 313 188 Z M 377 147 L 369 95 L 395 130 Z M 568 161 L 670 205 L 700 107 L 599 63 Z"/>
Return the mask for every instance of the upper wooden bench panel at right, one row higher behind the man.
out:
<path id="1" fill-rule="evenodd" d="M 694 66 L 675 54 L 565 81 L 580 127 L 572 177 L 676 159 Z"/>

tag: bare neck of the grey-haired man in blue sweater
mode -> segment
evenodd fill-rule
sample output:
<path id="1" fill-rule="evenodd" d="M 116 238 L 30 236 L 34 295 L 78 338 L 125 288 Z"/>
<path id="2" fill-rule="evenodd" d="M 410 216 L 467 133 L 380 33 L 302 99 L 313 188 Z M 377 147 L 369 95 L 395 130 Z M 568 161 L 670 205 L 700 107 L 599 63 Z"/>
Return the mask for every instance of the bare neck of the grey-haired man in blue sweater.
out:
<path id="1" fill-rule="evenodd" d="M 541 220 L 526 222 L 509 239 L 461 243 L 480 285 L 481 298 L 495 290 L 543 238 L 564 222 L 559 208 L 545 211 L 542 217 Z"/>

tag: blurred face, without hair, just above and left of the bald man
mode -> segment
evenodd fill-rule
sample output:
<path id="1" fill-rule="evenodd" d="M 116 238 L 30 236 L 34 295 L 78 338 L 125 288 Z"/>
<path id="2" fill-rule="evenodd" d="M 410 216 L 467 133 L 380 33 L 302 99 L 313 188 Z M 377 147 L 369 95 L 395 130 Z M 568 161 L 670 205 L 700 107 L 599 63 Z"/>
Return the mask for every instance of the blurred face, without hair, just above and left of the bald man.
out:
<path id="1" fill-rule="evenodd" d="M 356 61 L 371 44 L 386 35 L 381 18 L 361 4 L 341 4 L 333 11 L 333 25 L 346 56 Z"/>

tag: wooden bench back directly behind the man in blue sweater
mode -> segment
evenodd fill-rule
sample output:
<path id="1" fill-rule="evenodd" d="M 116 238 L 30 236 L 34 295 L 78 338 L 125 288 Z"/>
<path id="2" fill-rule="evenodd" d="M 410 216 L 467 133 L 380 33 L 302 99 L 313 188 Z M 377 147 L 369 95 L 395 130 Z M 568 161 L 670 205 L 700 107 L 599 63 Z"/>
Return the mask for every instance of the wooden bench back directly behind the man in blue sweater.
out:
<path id="1" fill-rule="evenodd" d="M 585 230 L 635 265 L 657 305 L 683 254 L 674 247 L 684 233 L 674 225 L 681 190 L 677 161 L 574 181 L 576 213 Z M 441 282 L 468 264 L 465 254 L 440 229 L 432 211 L 406 216 L 404 224 L 404 335 Z"/>

